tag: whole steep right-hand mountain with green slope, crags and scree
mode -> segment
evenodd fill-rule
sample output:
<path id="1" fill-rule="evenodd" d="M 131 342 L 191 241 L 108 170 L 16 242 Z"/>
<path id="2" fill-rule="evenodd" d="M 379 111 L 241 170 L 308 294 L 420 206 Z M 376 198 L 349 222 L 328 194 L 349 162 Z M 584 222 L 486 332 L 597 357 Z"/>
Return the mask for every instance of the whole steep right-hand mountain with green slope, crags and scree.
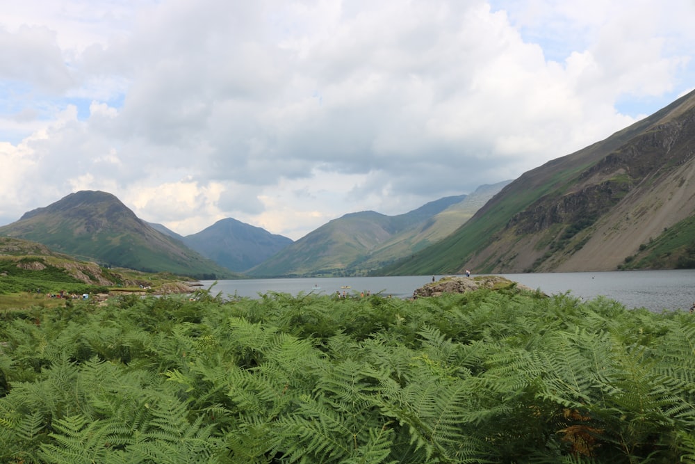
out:
<path id="1" fill-rule="evenodd" d="M 386 275 L 695 267 L 695 91 L 524 173 Z"/>

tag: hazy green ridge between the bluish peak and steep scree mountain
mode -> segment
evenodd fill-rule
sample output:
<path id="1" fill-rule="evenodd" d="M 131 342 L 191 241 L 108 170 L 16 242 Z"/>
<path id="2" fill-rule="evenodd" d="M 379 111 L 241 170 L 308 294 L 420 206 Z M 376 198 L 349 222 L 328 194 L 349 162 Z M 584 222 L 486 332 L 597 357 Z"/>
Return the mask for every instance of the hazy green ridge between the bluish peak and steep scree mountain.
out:
<path id="1" fill-rule="evenodd" d="M 255 277 L 367 275 L 453 232 L 505 183 L 429 202 L 398 216 L 345 214 L 247 271 Z"/>

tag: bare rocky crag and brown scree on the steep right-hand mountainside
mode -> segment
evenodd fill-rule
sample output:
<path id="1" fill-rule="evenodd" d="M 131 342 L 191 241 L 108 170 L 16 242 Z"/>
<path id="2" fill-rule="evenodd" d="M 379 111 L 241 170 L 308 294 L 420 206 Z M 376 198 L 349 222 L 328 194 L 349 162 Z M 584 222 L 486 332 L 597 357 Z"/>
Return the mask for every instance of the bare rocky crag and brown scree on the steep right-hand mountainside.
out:
<path id="1" fill-rule="evenodd" d="M 615 270 L 695 214 L 695 109 L 664 120 L 514 214 L 465 267 Z"/>

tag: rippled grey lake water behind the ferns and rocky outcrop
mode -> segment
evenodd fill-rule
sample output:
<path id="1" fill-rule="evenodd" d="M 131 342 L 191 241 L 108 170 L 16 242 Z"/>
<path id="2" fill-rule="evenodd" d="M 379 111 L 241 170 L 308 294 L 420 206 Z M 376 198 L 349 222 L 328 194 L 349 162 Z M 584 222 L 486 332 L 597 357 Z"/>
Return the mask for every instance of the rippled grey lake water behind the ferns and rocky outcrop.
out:
<path id="1" fill-rule="evenodd" d="M 695 301 L 695 270 L 615 271 L 578 273 L 501 274 L 546 294 L 564 294 L 589 300 L 606 296 L 628 308 L 646 307 L 653 311 L 688 310 Z M 441 275 L 435 275 L 439 280 Z M 204 288 L 215 281 L 202 280 Z M 432 275 L 400 277 L 293 278 L 218 280 L 213 294 L 258 298 L 269 291 L 297 294 L 359 294 L 361 291 L 407 298 L 413 291 L 432 282 Z M 350 288 L 343 288 L 350 287 Z"/>

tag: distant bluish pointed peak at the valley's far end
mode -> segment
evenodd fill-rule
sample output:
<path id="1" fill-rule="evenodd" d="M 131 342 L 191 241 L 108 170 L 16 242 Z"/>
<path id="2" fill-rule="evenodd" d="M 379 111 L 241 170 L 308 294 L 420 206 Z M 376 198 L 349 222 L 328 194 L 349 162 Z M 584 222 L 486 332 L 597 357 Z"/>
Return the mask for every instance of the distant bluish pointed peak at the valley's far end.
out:
<path id="1" fill-rule="evenodd" d="M 181 241 L 220 266 L 238 272 L 260 264 L 293 243 L 292 239 L 233 218 L 222 219 Z"/>

